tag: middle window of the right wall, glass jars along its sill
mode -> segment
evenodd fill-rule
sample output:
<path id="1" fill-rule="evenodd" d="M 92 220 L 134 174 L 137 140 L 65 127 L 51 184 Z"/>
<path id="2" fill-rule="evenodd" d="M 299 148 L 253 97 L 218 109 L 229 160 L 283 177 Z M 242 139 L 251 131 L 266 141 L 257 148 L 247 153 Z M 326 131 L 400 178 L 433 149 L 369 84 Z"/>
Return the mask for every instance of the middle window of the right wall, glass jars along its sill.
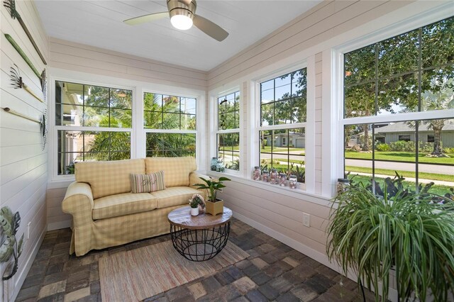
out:
<path id="1" fill-rule="evenodd" d="M 260 165 L 305 181 L 306 68 L 260 83 Z"/>

